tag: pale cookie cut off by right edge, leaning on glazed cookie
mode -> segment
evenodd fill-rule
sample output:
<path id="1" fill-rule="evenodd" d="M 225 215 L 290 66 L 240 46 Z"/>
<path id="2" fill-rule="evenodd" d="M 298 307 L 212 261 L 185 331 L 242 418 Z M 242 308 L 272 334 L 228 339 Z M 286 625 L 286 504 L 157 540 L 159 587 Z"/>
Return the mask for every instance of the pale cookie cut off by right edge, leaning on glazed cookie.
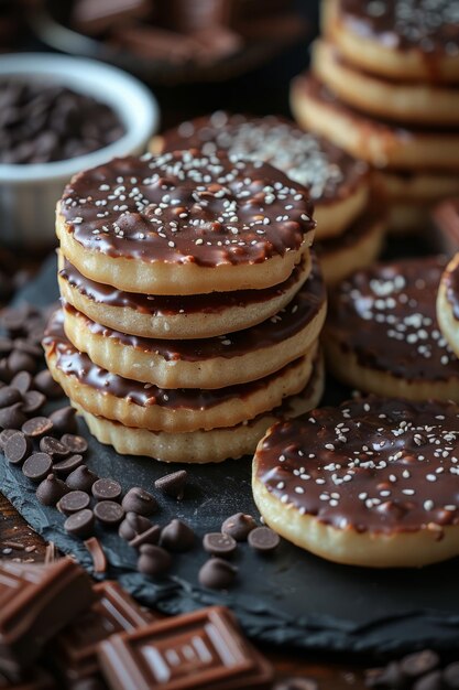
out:
<path id="1" fill-rule="evenodd" d="M 459 357 L 459 252 L 441 274 L 437 294 L 437 319 L 445 339 Z"/>

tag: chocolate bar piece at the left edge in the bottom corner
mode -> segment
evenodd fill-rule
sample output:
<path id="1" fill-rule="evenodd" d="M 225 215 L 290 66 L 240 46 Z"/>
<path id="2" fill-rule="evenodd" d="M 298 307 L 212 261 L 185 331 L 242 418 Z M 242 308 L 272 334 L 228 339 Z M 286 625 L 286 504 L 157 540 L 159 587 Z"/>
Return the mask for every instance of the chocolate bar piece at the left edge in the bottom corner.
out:
<path id="1" fill-rule="evenodd" d="M 0 671 L 15 680 L 44 645 L 95 600 L 69 558 L 50 565 L 0 563 Z"/>

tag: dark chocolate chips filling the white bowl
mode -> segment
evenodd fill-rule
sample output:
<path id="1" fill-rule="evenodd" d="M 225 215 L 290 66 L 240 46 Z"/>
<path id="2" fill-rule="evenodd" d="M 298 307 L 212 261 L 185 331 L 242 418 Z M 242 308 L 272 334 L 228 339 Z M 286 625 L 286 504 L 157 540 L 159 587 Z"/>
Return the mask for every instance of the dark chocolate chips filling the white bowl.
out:
<path id="1" fill-rule="evenodd" d="M 64 86 L 0 83 L 0 163 L 50 163 L 102 149 L 124 133 L 106 104 Z"/>

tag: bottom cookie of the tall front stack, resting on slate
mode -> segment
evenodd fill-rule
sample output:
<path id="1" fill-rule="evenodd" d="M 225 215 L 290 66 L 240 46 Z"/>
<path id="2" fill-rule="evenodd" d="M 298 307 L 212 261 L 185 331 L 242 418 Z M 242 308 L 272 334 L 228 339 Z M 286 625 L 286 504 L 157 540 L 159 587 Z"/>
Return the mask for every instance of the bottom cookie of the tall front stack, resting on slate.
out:
<path id="1" fill-rule="evenodd" d="M 112 445 L 122 455 L 145 455 L 163 462 L 215 463 L 228 457 L 241 457 L 254 452 L 256 443 L 278 419 L 297 417 L 316 407 L 324 392 L 325 375 L 320 357 L 310 380 L 298 396 L 242 424 L 210 431 L 167 433 L 147 429 L 130 429 L 123 424 L 96 417 L 79 408 L 90 432 Z M 78 406 L 75 406 L 78 409 Z"/>

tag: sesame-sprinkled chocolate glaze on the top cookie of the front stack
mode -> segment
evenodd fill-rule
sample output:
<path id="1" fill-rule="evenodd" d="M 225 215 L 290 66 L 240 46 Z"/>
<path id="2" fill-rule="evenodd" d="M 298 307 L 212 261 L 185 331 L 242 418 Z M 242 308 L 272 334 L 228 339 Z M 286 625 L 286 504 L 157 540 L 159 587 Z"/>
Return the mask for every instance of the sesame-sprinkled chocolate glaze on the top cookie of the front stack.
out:
<path id="1" fill-rule="evenodd" d="M 312 234 L 302 185 L 267 163 L 176 151 L 114 159 L 76 175 L 59 204 L 88 250 L 167 263 L 260 263 Z"/>

